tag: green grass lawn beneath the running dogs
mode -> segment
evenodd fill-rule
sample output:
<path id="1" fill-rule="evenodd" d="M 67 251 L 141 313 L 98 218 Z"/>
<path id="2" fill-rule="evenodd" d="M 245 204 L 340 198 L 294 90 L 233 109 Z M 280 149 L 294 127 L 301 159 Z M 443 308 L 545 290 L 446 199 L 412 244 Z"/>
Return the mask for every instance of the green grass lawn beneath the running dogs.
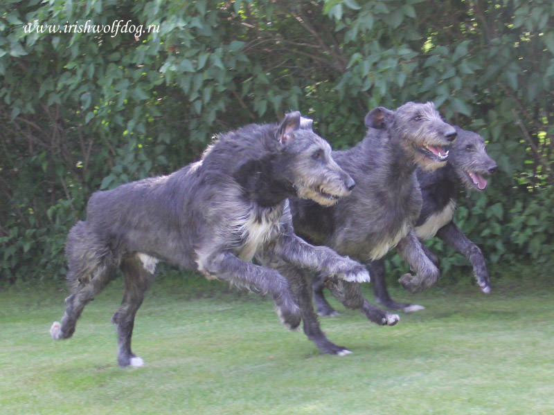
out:
<path id="1" fill-rule="evenodd" d="M 192 279 L 193 288 L 189 283 Z M 446 282 L 396 299 L 427 308 L 393 327 L 355 311 L 322 319 L 354 351 L 325 356 L 278 322 L 269 299 L 199 277 L 161 278 L 136 319 L 141 368 L 116 363 L 120 279 L 54 341 L 64 286 L 0 291 L 0 414 L 554 414 L 554 288 Z M 364 288 L 369 298 L 370 286 Z"/>

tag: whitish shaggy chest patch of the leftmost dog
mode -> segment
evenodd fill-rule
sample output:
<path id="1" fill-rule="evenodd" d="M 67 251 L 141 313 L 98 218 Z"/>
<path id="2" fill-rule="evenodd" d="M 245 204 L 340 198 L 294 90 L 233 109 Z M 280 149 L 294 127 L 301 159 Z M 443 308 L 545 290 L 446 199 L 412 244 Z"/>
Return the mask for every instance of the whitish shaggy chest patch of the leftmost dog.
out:
<path id="1" fill-rule="evenodd" d="M 251 261 L 260 246 L 265 245 L 280 232 L 281 208 L 251 210 L 241 225 L 242 246 L 238 257 L 243 261 Z"/>

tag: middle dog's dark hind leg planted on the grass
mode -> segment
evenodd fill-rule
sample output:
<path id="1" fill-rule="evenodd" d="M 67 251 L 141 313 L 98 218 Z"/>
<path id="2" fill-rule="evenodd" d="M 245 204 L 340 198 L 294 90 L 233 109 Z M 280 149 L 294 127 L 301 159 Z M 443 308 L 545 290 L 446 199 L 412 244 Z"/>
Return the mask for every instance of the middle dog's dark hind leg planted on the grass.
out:
<path id="1" fill-rule="evenodd" d="M 281 274 L 285 275 L 289 280 L 289 285 L 300 306 L 300 313 L 302 316 L 304 333 L 307 338 L 312 340 L 321 353 L 334 354 L 338 356 L 345 356 L 352 353 L 346 347 L 337 346 L 331 342 L 325 333 L 321 331 L 319 320 L 314 312 L 314 306 L 312 306 L 312 298 L 310 295 L 310 286 L 307 283 L 307 277 L 305 273 L 295 268 L 294 266 L 285 265 L 276 266 L 276 269 Z"/>

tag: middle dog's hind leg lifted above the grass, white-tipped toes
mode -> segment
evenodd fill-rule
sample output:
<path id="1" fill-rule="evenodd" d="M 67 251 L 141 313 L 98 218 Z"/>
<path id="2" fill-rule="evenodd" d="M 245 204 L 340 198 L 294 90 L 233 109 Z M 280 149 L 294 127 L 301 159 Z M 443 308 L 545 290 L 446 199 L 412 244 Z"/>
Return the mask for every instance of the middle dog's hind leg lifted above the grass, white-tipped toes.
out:
<path id="1" fill-rule="evenodd" d="M 400 321 L 397 314 L 388 313 L 368 302 L 361 293 L 359 283 L 343 281 L 337 277 L 326 277 L 325 286 L 346 308 L 361 311 L 368 320 L 379 326 L 394 326 Z"/>

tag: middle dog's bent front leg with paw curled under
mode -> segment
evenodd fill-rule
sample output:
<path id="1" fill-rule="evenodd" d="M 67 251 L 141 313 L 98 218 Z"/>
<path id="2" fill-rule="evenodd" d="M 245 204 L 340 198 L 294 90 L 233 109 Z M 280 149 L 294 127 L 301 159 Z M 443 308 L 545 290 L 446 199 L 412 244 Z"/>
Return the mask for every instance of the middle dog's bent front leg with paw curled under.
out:
<path id="1" fill-rule="evenodd" d="M 404 274 L 399 282 L 406 290 L 417 293 L 422 288 L 429 288 L 438 281 L 440 271 L 425 253 L 422 243 L 413 230 L 408 232 L 397 246 L 400 256 L 409 264 L 415 275 Z"/>

